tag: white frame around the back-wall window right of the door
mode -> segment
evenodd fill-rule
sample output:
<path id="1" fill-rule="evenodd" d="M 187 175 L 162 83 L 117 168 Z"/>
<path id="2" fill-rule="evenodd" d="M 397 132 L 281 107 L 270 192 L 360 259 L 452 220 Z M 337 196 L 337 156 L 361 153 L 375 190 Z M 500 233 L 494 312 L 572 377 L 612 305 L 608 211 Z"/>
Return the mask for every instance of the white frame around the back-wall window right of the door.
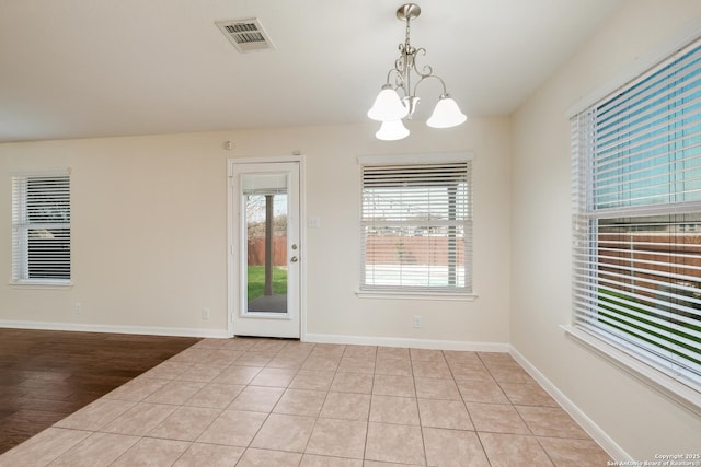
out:
<path id="1" fill-rule="evenodd" d="M 472 162 L 474 156 L 470 152 L 458 153 L 434 153 L 434 154 L 393 154 L 393 155 L 365 155 L 358 157 L 358 165 L 360 168 L 360 183 L 359 183 L 359 241 L 360 241 L 360 258 L 359 258 L 359 284 L 356 290 L 356 294 L 359 297 L 375 297 L 375 299 L 406 299 L 406 300 L 443 300 L 443 301 L 472 301 L 476 297 L 473 292 L 472 284 L 472 244 L 473 244 L 473 217 L 472 217 Z M 436 165 L 436 164 L 467 164 L 467 202 L 468 202 L 468 215 L 463 221 L 464 223 L 464 281 L 466 287 L 450 288 L 450 287 L 407 287 L 407 285 L 372 285 L 364 283 L 365 278 L 365 247 L 364 247 L 364 229 L 363 221 L 364 207 L 363 207 L 363 192 L 365 188 L 364 184 L 364 167 L 380 167 L 388 165 L 407 167 L 416 167 L 421 165 Z"/>

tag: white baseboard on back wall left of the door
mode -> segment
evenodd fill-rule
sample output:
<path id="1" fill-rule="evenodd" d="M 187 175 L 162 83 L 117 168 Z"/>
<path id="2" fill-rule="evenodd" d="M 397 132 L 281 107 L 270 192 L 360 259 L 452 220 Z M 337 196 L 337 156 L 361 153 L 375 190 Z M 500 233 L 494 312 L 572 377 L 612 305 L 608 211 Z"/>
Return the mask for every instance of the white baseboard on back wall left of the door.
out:
<path id="1" fill-rule="evenodd" d="M 148 336 L 226 338 L 226 329 L 200 329 L 153 326 L 107 326 L 76 323 L 12 322 L 0 319 L 0 328 L 69 330 L 81 332 L 141 334 Z"/>

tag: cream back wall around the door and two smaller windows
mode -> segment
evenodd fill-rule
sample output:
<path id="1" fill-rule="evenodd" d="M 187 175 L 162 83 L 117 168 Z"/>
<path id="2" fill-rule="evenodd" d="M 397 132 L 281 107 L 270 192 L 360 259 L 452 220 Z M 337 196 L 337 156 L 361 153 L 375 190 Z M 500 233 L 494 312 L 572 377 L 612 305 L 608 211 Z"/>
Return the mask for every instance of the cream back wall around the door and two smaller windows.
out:
<path id="1" fill-rule="evenodd" d="M 413 124 L 387 143 L 338 126 L 0 144 L 0 265 L 10 278 L 13 170 L 72 171 L 73 287 L 0 285 L 0 325 L 105 326 L 223 336 L 227 329 L 227 159 L 286 156 L 307 166 L 307 332 L 321 337 L 509 341 L 509 122 L 451 130 Z M 231 140 L 233 150 L 223 149 Z M 359 166 L 366 154 L 472 151 L 474 302 L 358 299 Z M 74 304 L 81 303 L 81 314 Z M 203 320 L 200 310 L 211 311 Z M 423 328 L 412 327 L 412 316 Z"/>

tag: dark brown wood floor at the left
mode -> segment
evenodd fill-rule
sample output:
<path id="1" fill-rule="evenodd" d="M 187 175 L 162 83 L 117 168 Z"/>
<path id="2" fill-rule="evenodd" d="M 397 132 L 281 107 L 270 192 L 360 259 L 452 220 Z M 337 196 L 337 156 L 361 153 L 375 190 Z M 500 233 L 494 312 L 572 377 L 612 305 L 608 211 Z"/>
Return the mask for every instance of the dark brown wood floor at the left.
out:
<path id="1" fill-rule="evenodd" d="M 0 454 L 198 340 L 0 328 Z"/>

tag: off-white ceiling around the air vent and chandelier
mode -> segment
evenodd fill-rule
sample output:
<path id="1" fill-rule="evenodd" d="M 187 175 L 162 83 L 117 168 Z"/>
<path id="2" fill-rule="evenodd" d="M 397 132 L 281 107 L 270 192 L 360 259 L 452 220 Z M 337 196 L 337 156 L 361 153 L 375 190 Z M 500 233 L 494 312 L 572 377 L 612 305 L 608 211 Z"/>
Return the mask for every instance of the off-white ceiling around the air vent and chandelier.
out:
<path id="1" fill-rule="evenodd" d="M 412 45 L 468 116 L 508 115 L 620 2 L 430 0 Z M 0 142 L 368 121 L 400 4 L 0 0 Z M 215 25 L 246 17 L 274 49 L 240 54 Z M 422 85 L 415 118 L 439 93 Z"/>

